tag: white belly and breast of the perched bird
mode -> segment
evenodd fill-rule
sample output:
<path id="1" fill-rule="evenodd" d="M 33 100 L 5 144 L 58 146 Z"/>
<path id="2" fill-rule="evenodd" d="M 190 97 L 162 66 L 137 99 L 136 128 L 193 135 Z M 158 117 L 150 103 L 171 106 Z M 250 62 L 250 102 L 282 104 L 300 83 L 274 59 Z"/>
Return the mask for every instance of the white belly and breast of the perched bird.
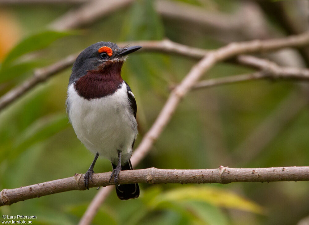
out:
<path id="1" fill-rule="evenodd" d="M 117 150 L 121 162 L 132 154 L 137 135 L 137 123 L 130 111 L 126 85 L 123 82 L 114 94 L 87 100 L 80 97 L 74 84 L 68 87 L 69 118 L 78 139 L 92 153 L 99 152 L 117 164 Z"/>

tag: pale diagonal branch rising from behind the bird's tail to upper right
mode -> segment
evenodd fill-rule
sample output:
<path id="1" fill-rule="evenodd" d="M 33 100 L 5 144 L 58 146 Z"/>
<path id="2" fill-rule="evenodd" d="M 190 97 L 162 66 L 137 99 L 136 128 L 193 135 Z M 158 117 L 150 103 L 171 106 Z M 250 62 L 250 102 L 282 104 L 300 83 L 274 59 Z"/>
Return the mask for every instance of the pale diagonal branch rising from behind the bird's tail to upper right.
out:
<path id="1" fill-rule="evenodd" d="M 153 123 L 150 130 L 146 133 L 146 135 L 144 135 L 138 148 L 135 149 L 131 157 L 133 166 L 137 165 L 140 160 L 142 160 L 150 151 L 152 145 L 159 138 L 159 135 L 170 121 L 171 116 L 174 114 L 181 98 L 183 98 L 184 95 L 193 87 L 193 85 L 202 76 L 202 74 L 209 70 L 218 61 L 226 60 L 232 56 L 248 52 L 274 50 L 279 46 L 279 48 L 284 48 L 287 47 L 284 46 L 287 43 L 292 44 L 293 46 L 297 46 L 297 43 L 299 42 L 304 43 L 304 41 L 307 39 L 304 36 L 307 35 L 307 38 L 309 39 L 309 32 L 306 32 L 303 33 L 303 36 L 300 36 L 296 39 L 295 36 L 287 38 L 287 42 L 282 41 L 283 39 L 273 39 L 265 41 L 254 40 L 248 42 L 231 43 L 225 47 L 219 48 L 218 50 L 208 52 L 208 54 L 202 58 L 202 60 L 193 66 L 190 72 L 182 80 L 180 85 L 178 85 L 171 92 L 169 98 L 163 106 L 163 109 L 160 111 L 157 119 L 155 120 L 155 123 Z M 78 225 L 89 225 L 91 223 L 95 214 L 97 213 L 97 210 L 99 209 L 99 206 L 102 204 L 111 190 L 111 188 L 104 188 L 101 189 L 98 194 L 96 194 L 88 206 L 86 212 L 84 213 L 82 219 L 79 221 Z"/>

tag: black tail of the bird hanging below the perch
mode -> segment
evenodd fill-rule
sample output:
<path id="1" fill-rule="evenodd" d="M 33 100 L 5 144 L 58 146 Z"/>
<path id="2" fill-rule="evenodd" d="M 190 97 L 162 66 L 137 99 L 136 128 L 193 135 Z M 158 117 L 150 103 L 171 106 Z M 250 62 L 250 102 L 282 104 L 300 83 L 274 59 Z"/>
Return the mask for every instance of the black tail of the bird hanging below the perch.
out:
<path id="1" fill-rule="evenodd" d="M 113 169 L 116 165 L 112 163 Z M 127 164 L 121 165 L 121 170 L 131 170 L 132 164 L 129 160 Z M 119 184 L 116 185 L 116 194 L 121 200 L 128 200 L 130 198 L 137 198 L 139 196 L 139 186 L 138 184 Z"/>

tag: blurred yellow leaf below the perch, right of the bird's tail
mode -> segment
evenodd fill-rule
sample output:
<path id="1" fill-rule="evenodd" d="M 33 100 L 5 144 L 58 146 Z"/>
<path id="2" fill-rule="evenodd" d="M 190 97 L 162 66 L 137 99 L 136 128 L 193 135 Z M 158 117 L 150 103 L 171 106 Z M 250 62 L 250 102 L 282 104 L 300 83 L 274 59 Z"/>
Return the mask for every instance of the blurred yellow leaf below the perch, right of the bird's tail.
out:
<path id="1" fill-rule="evenodd" d="M 210 187 L 187 186 L 167 191 L 158 195 L 152 202 L 153 207 L 157 207 L 163 202 L 206 202 L 214 206 L 239 209 L 257 214 L 263 214 L 264 210 L 256 203 L 240 197 L 224 189 Z"/>

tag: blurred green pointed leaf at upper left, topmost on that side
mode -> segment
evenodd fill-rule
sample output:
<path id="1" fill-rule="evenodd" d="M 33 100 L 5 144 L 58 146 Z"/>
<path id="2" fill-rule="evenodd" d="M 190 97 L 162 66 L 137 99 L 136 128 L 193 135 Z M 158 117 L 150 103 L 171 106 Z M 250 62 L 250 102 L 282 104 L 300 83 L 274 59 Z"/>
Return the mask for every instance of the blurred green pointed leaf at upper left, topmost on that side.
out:
<path id="1" fill-rule="evenodd" d="M 8 67 L 14 60 L 25 53 L 46 48 L 53 41 L 68 36 L 69 32 L 43 31 L 23 39 L 6 56 L 2 62 L 2 69 Z"/>

